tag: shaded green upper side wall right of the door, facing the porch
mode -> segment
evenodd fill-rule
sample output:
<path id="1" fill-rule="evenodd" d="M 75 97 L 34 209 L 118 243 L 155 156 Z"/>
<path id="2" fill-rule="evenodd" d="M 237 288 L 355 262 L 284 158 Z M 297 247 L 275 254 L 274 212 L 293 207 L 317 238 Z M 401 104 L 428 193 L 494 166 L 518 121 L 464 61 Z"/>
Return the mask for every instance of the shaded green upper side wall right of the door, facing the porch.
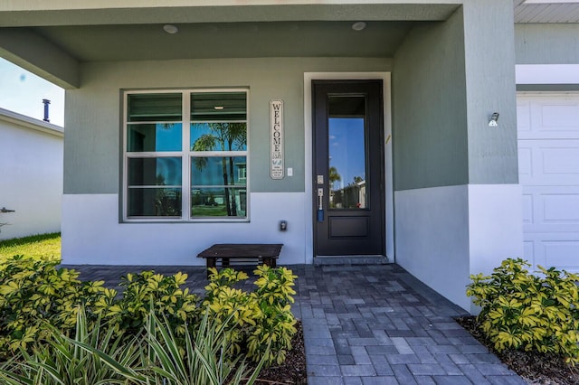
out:
<path id="1" fill-rule="evenodd" d="M 415 27 L 394 55 L 394 189 L 468 182 L 462 14 Z"/>

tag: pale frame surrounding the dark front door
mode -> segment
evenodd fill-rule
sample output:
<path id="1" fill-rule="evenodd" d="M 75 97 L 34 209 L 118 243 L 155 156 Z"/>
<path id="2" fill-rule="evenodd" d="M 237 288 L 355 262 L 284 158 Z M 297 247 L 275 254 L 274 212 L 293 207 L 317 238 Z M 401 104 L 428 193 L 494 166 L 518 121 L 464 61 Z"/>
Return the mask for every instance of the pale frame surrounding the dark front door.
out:
<path id="1" fill-rule="evenodd" d="M 311 204 L 313 186 L 313 125 L 311 80 L 383 80 L 384 95 L 384 250 L 390 262 L 394 262 L 394 168 L 392 164 L 392 110 L 390 72 L 305 72 L 304 73 L 304 142 L 305 142 L 305 254 L 306 263 L 314 261 L 314 218 Z"/>

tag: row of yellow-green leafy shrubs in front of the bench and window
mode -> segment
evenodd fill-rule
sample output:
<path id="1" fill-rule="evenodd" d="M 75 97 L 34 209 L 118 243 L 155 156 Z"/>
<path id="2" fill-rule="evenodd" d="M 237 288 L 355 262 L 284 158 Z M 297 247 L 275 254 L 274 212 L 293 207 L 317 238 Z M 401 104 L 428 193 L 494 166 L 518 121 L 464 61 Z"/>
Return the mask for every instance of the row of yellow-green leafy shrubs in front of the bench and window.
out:
<path id="1" fill-rule="evenodd" d="M 195 330 L 202 316 L 227 324 L 229 357 L 244 353 L 253 362 L 271 365 L 285 360 L 296 333 L 290 312 L 296 278 L 287 268 L 261 267 L 252 292 L 235 286 L 248 278 L 224 268 L 213 271 L 206 294 L 199 298 L 183 288 L 187 276 L 171 277 L 144 271 L 121 278 L 122 295 L 103 281 L 82 282 L 75 270 L 56 268 L 57 261 L 16 256 L 0 264 L 0 358 L 43 341 L 51 327 L 73 333 L 79 309 L 86 312 L 91 332 L 102 320 L 115 338 L 137 333 L 151 313 L 166 320 L 171 333 L 184 339 L 187 325 Z M 52 325 L 47 327 L 47 325 Z"/>

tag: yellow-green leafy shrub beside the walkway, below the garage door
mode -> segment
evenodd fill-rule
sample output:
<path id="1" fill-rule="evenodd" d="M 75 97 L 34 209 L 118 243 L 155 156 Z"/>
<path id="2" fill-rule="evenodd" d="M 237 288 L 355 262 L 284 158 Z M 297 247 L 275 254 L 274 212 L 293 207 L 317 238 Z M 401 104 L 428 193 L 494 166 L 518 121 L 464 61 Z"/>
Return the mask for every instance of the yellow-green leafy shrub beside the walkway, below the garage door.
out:
<path id="1" fill-rule="evenodd" d="M 498 352 L 554 352 L 579 362 L 579 276 L 542 267 L 531 275 L 529 266 L 508 258 L 489 277 L 470 276 L 467 296 L 481 307 L 483 332 Z"/>

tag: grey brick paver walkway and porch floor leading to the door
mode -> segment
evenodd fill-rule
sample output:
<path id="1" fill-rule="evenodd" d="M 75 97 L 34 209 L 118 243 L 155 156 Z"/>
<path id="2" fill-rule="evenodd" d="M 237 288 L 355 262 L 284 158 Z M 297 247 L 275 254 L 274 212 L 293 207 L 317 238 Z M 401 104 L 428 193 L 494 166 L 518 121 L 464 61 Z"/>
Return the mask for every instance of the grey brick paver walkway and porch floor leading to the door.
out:
<path id="1" fill-rule="evenodd" d="M 150 269 L 66 267 L 108 285 Z M 293 311 L 304 329 L 309 385 L 526 383 L 453 321 L 464 310 L 397 265 L 289 268 L 299 277 Z M 191 290 L 204 292 L 204 268 L 155 270 L 186 272 Z"/>

